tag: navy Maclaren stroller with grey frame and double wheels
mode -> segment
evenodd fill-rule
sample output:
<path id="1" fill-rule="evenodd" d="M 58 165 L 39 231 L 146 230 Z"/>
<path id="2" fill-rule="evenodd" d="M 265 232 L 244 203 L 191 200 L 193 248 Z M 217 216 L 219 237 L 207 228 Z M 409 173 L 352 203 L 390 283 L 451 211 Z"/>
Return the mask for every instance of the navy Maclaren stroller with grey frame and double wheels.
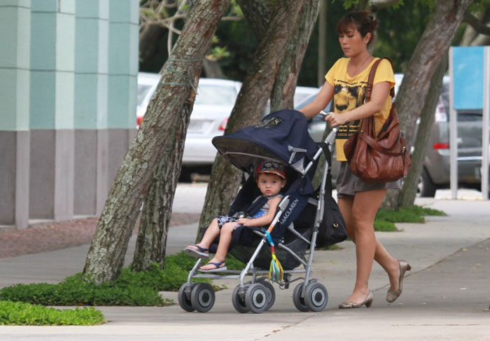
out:
<path id="1" fill-rule="evenodd" d="M 328 246 L 346 239 L 342 215 L 332 198 L 330 152 L 334 139 L 335 130 L 317 146 L 307 132 L 307 119 L 299 111 L 291 110 L 270 113 L 257 125 L 213 139 L 218 151 L 232 165 L 248 174 L 253 174 L 255 165 L 263 159 L 288 166 L 284 197 L 272 221 L 270 237 L 283 267 L 279 287 L 288 288 L 293 281 L 304 279 L 293 291 L 293 304 L 302 312 L 320 312 L 328 303 L 325 286 L 311 278 L 315 246 Z M 314 190 L 311 179 L 322 153 L 325 166 L 321 185 Z M 232 202 L 229 215 L 250 209 L 253 206 L 251 200 L 257 195 L 260 191 L 253 176 L 249 176 Z M 179 290 L 181 308 L 188 312 L 208 312 L 213 307 L 215 295 L 212 286 L 192 281 L 198 278 L 239 279 L 232 293 L 232 305 L 238 312 L 261 313 L 272 307 L 275 292 L 267 278 L 272 256 L 266 230 L 267 227 L 242 226 L 233 233 L 229 253 L 246 263 L 243 270 L 200 274 L 198 269 L 202 259 L 198 259 L 188 281 Z M 214 253 L 216 244 L 211 245 L 209 251 Z M 302 268 L 296 269 L 300 265 Z M 293 274 L 304 277 L 292 280 Z M 246 276 L 251 276 L 251 281 L 246 281 Z"/>

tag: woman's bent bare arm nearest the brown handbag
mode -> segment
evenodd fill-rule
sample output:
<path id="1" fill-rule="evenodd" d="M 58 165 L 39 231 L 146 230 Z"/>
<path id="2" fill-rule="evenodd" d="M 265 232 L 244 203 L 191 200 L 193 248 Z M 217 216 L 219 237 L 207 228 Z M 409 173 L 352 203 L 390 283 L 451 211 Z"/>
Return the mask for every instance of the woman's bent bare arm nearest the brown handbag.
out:
<path id="1" fill-rule="evenodd" d="M 390 82 L 381 82 L 374 84 L 372 87 L 372 94 L 370 102 L 358 106 L 356 109 L 351 111 L 346 111 L 345 113 L 328 113 L 325 120 L 332 127 L 337 127 L 337 125 L 344 125 L 347 122 L 352 122 L 355 120 L 360 120 L 361 118 L 366 118 L 379 113 L 383 109 L 384 102 L 386 102 L 386 97 L 390 91 Z"/>

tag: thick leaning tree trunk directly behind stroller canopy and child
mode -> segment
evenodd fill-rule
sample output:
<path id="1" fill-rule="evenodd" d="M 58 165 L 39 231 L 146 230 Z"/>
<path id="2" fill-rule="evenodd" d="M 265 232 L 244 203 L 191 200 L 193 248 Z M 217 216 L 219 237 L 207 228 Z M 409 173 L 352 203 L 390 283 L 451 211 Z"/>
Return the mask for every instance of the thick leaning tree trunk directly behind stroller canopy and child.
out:
<path id="1" fill-rule="evenodd" d="M 286 51 L 286 44 L 296 25 L 304 0 L 284 0 L 277 4 L 267 31 L 259 40 L 251 67 L 241 85 L 237 102 L 233 107 L 225 134 L 230 134 L 262 118 L 267 100 L 274 85 L 279 63 Z M 217 155 L 211 171 L 204 207 L 197 232 L 197 240 L 216 214 L 226 213 L 235 197 L 241 172 L 232 167 L 223 156 Z"/>

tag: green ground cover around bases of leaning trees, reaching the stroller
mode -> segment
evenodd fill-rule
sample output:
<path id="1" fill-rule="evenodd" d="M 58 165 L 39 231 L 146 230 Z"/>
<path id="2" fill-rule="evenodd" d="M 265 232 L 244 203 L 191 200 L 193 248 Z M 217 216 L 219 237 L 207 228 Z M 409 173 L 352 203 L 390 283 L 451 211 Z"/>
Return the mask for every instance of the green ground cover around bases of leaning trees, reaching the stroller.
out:
<path id="1" fill-rule="evenodd" d="M 165 258 L 165 269 L 155 264 L 142 272 L 125 267 L 118 279 L 100 286 L 86 281 L 82 274 L 66 277 L 58 284 L 15 284 L 0 290 L 0 301 L 29 302 L 35 305 L 125 305 L 165 306 L 174 301 L 163 299 L 159 291 L 179 291 L 187 281 L 195 258 L 181 252 Z M 242 269 L 244 263 L 230 256 L 226 260 L 231 269 Z M 209 279 L 195 279 L 210 282 Z M 217 288 L 218 289 L 218 288 Z"/>

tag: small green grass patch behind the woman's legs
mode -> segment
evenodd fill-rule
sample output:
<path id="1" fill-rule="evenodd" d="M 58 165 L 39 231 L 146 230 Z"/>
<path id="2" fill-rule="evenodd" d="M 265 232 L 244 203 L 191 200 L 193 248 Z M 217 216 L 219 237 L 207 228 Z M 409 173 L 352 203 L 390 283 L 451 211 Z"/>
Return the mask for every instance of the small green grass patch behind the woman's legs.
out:
<path id="1" fill-rule="evenodd" d="M 395 223 L 424 223 L 424 216 L 446 216 L 443 211 L 421 206 L 400 207 L 398 211 L 379 209 L 374 219 L 375 231 L 398 231 Z"/>

